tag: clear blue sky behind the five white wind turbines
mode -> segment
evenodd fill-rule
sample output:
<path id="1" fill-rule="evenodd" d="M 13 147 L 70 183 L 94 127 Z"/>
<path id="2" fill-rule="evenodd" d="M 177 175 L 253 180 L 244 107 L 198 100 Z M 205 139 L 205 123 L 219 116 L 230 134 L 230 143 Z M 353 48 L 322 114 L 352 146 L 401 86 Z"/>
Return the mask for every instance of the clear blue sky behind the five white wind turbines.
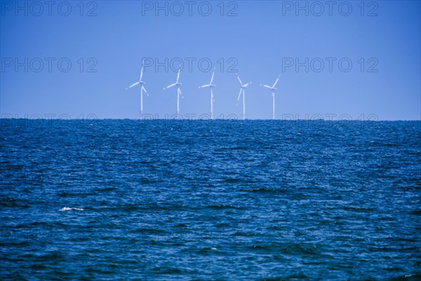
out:
<path id="1" fill-rule="evenodd" d="M 209 114 L 210 91 L 197 88 L 216 67 L 215 117 L 241 117 L 238 70 L 253 82 L 248 119 L 272 117 L 259 84 L 278 74 L 278 119 L 421 119 L 420 1 L 0 3 L 2 117 L 136 119 L 140 88 L 125 88 L 138 81 L 142 58 L 144 113 L 171 116 L 176 91 L 163 87 L 181 58 L 181 115 Z"/>

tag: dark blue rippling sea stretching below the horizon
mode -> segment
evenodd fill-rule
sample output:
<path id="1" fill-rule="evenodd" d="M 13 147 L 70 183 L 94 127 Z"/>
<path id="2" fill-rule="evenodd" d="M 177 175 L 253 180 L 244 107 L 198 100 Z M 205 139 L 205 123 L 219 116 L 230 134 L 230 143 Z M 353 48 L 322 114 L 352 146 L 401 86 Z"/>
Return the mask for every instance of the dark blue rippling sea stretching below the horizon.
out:
<path id="1" fill-rule="evenodd" d="M 421 122 L 2 119 L 0 147 L 2 280 L 421 279 Z"/>

